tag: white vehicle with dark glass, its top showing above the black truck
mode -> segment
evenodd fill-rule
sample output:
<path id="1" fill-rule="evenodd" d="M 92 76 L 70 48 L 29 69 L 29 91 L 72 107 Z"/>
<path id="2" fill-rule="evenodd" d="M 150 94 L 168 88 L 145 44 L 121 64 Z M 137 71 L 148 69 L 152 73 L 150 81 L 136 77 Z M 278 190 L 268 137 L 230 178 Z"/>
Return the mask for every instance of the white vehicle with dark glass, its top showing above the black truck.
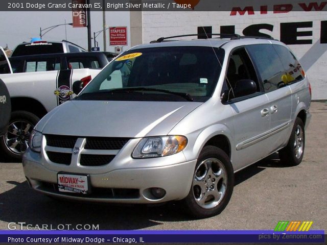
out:
<path id="1" fill-rule="evenodd" d="M 79 53 L 86 52 L 86 50 L 66 40 L 62 41 L 34 41 L 34 42 L 23 42 L 18 44 L 11 57 L 22 56 L 22 55 L 40 55 L 40 54 L 55 54 L 55 53 Z"/>

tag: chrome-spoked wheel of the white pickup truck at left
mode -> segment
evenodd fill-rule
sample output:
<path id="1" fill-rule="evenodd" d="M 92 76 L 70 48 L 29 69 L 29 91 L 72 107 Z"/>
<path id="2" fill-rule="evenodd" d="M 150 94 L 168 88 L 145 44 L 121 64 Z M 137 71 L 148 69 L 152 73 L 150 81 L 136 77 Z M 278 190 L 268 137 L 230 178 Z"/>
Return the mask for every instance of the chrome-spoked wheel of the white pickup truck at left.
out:
<path id="1" fill-rule="evenodd" d="M 10 159 L 21 160 L 28 148 L 30 134 L 39 120 L 39 117 L 28 111 L 12 112 L 9 127 L 0 138 L 2 152 Z"/>

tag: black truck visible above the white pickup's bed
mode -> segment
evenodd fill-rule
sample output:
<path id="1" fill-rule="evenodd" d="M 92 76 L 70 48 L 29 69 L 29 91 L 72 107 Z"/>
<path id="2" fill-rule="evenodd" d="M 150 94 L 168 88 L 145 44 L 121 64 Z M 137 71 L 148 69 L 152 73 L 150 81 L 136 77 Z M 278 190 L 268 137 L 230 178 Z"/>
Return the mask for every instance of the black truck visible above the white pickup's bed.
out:
<path id="1" fill-rule="evenodd" d="M 13 73 L 65 70 L 102 69 L 117 54 L 110 52 L 58 53 L 10 57 Z"/>

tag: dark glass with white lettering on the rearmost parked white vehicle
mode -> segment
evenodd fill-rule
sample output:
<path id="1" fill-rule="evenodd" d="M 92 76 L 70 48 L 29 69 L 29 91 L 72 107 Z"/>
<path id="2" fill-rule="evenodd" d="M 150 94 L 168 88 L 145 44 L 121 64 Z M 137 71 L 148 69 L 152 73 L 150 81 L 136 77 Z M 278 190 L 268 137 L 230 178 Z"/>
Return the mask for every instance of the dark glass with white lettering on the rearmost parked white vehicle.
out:
<path id="1" fill-rule="evenodd" d="M 62 43 L 26 43 L 18 45 L 11 57 L 63 53 Z"/>

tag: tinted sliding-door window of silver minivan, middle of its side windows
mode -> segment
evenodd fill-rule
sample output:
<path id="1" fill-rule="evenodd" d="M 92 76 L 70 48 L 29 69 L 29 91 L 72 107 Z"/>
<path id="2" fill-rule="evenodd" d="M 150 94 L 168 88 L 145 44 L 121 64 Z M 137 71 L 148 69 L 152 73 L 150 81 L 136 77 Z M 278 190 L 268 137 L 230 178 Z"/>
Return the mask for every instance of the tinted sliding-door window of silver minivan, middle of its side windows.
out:
<path id="1" fill-rule="evenodd" d="M 271 44 L 253 44 L 246 48 L 259 70 L 265 92 L 286 85 L 284 67 Z"/>

